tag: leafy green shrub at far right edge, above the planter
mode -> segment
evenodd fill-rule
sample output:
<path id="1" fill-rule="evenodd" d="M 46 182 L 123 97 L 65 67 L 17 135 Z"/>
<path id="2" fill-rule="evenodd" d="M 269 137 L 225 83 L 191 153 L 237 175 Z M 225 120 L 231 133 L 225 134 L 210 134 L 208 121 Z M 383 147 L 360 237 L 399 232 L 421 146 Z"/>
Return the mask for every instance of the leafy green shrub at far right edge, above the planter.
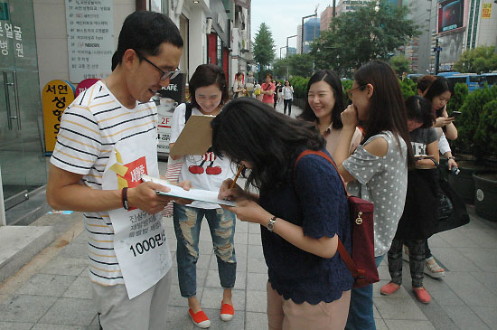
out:
<path id="1" fill-rule="evenodd" d="M 492 89 L 474 90 L 464 100 L 463 106 L 459 109 L 462 114 L 455 122 L 458 130 L 455 146 L 459 151 L 471 152 L 477 158 L 488 156 L 488 147 L 491 141 L 480 140 L 477 142 L 475 137 L 477 135 L 483 137 L 487 134 L 479 132 L 479 126 L 484 120 L 483 108 L 493 99 L 497 99 L 497 86 L 493 86 Z M 482 125 L 486 125 L 486 123 Z"/>

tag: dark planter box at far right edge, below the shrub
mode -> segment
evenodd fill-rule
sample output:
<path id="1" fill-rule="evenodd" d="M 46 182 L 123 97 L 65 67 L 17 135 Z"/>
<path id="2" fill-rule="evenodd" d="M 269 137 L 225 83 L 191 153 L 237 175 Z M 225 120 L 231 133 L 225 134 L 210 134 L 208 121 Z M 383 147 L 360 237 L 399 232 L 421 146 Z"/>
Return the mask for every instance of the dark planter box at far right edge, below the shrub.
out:
<path id="1" fill-rule="evenodd" d="M 497 171 L 473 174 L 474 211 L 484 219 L 497 222 Z"/>

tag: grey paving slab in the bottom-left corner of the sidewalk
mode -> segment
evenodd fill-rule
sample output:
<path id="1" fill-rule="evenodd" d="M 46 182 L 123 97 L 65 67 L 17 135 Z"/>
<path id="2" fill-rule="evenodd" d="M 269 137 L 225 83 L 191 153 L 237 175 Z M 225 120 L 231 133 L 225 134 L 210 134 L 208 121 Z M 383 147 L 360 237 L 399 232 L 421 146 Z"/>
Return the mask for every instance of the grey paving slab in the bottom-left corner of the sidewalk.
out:
<path id="1" fill-rule="evenodd" d="M 14 296 L 0 304 L 0 321 L 36 323 L 56 300 L 56 297 Z"/>

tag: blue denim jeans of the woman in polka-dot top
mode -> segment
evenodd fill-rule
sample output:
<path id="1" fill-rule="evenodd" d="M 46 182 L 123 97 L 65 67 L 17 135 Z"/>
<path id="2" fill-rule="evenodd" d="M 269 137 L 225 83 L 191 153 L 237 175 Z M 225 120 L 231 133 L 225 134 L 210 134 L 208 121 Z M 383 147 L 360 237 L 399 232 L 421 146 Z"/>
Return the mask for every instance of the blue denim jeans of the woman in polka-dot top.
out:
<path id="1" fill-rule="evenodd" d="M 376 267 L 380 266 L 382 255 L 376 257 Z M 376 330 L 372 303 L 372 284 L 362 288 L 352 288 L 351 306 L 347 318 L 347 330 Z"/>

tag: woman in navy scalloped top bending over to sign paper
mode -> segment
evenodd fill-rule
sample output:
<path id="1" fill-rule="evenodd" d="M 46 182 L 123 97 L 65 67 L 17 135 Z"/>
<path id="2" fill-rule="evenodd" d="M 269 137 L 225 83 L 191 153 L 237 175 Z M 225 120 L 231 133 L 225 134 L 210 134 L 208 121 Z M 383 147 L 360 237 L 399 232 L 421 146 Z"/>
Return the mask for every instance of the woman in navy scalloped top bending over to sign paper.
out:
<path id="1" fill-rule="evenodd" d="M 220 198 L 236 201 L 239 220 L 260 224 L 267 263 L 269 329 L 343 329 L 352 274 L 337 252 L 351 252 L 342 180 L 314 124 L 277 113 L 254 99 L 236 99 L 212 119 L 212 148 L 249 170 L 258 195 L 225 181 Z M 263 147 L 261 147 L 263 146 Z M 248 186 L 248 184 L 246 186 Z M 316 195 L 319 198 L 316 198 Z"/>

